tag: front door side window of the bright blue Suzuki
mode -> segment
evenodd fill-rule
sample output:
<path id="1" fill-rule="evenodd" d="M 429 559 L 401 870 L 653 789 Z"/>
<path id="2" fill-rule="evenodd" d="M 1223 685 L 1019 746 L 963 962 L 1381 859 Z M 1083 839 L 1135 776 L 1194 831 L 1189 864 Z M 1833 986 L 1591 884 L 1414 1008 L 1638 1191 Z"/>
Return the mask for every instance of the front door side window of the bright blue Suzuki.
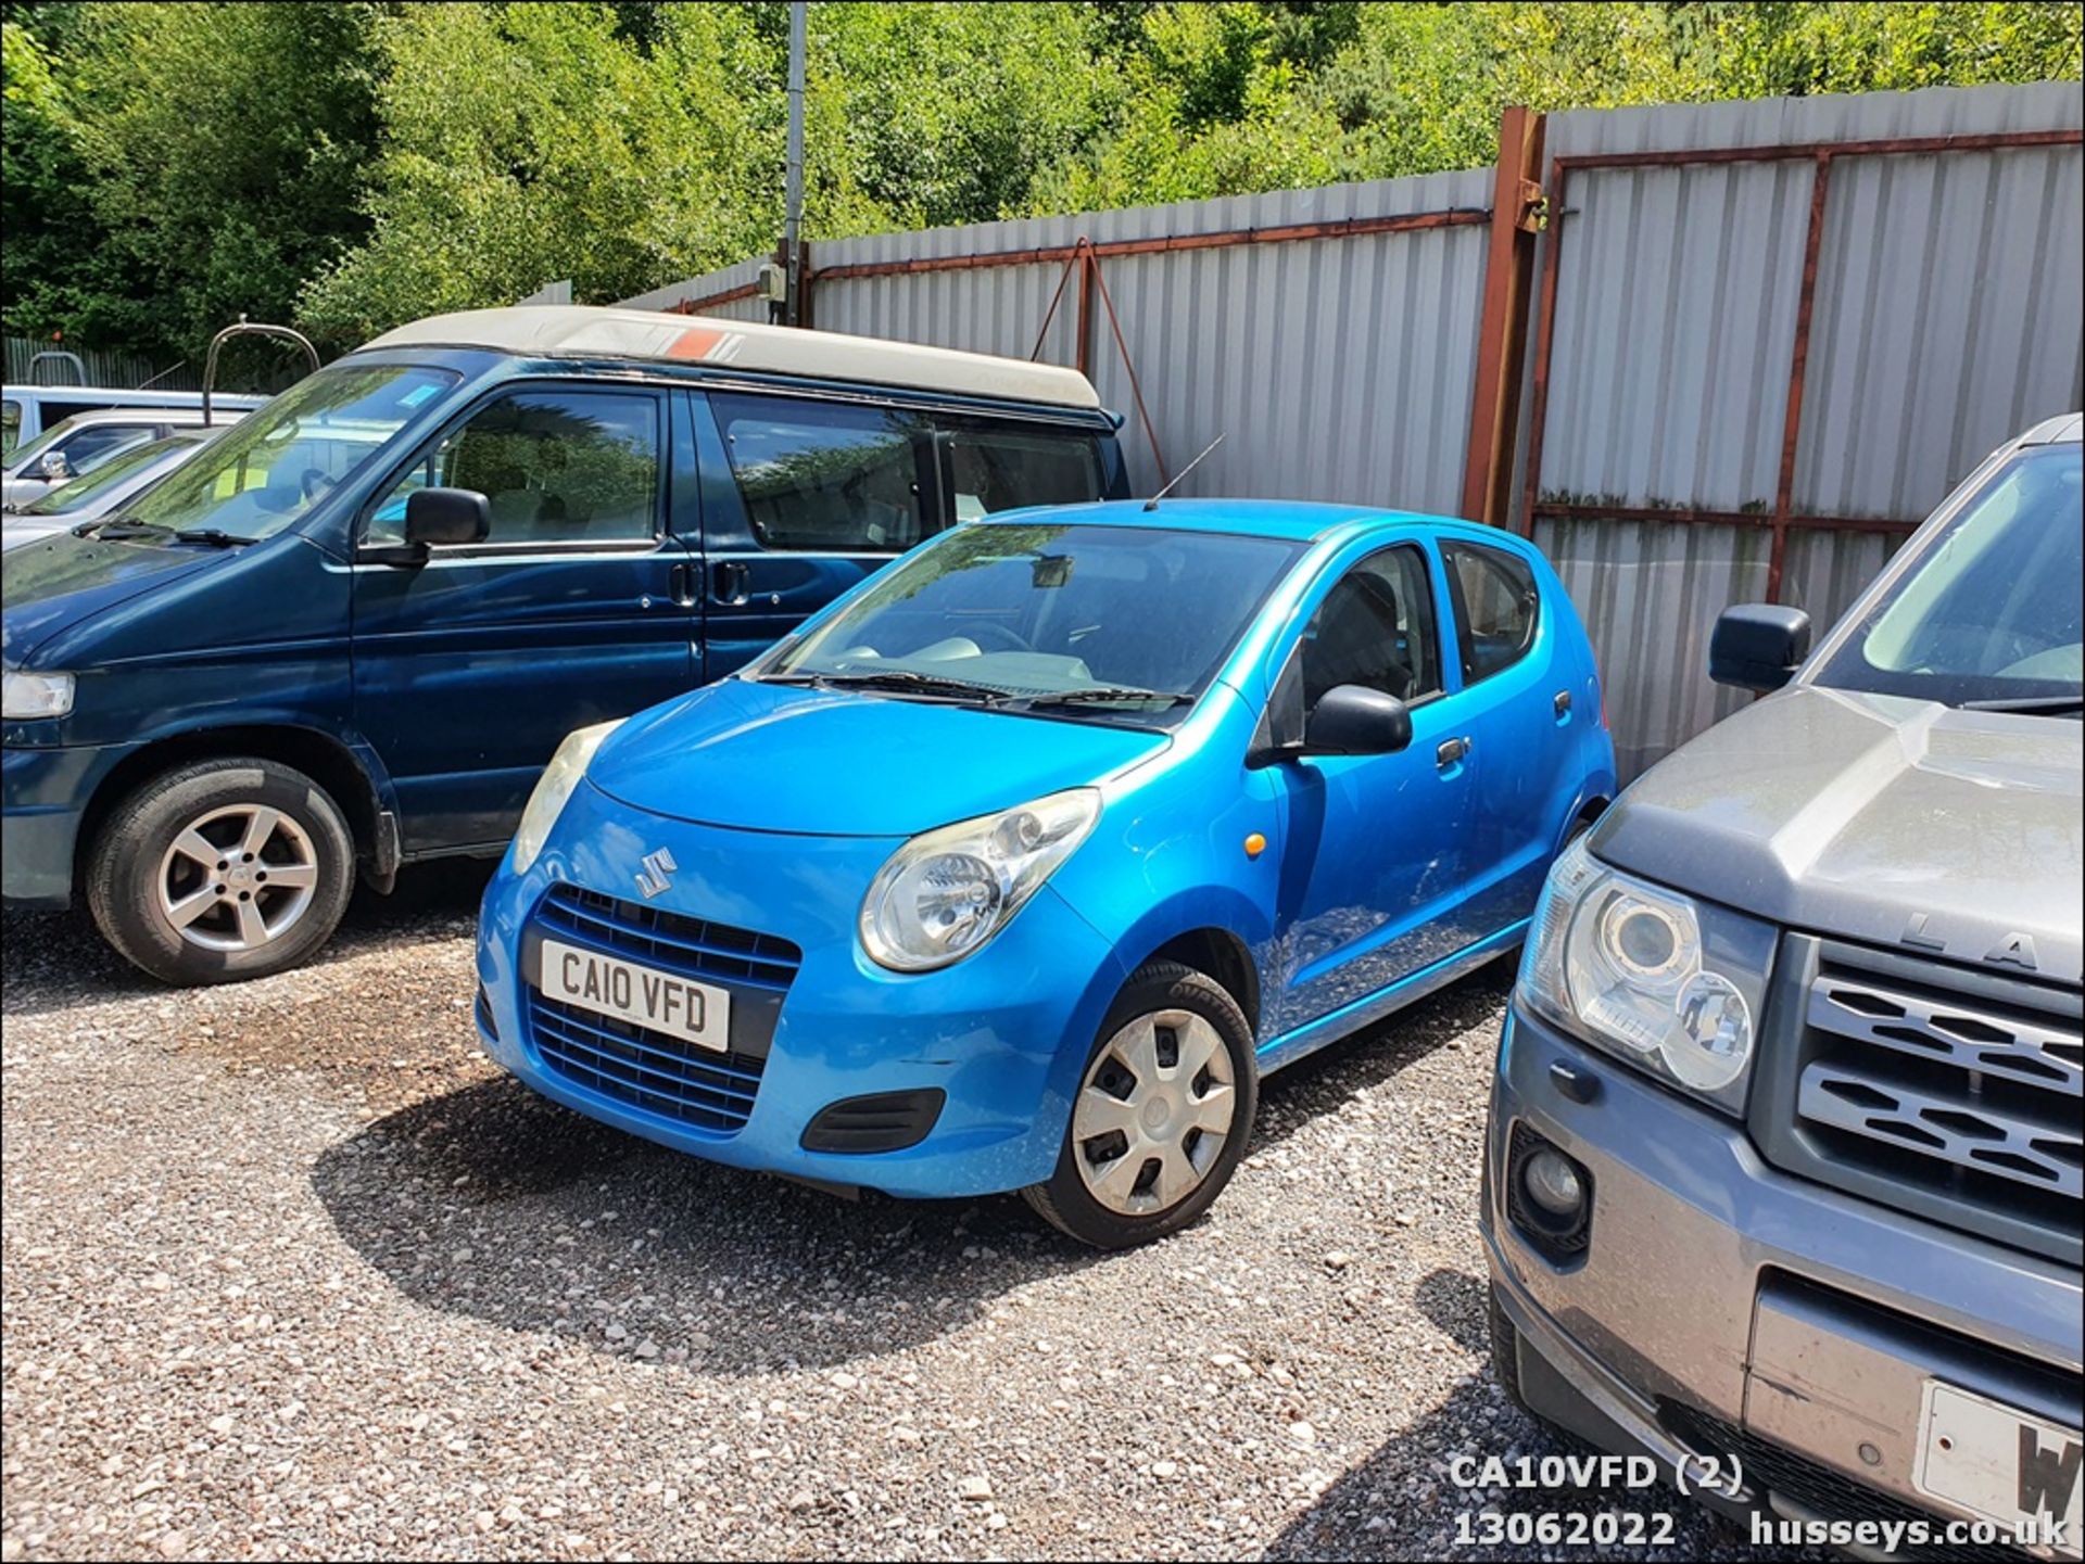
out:
<path id="1" fill-rule="evenodd" d="M 1366 685 L 1397 700 L 1441 689 L 1426 556 L 1387 548 L 1343 575 L 1303 631 L 1303 708 L 1334 685 Z"/>

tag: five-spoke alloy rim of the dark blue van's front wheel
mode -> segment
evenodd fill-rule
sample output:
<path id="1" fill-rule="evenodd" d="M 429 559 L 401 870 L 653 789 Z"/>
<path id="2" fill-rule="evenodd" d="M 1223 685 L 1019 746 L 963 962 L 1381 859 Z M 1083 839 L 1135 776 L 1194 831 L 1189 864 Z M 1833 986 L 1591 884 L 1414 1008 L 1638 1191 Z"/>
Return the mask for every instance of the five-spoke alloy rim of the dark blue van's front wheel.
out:
<path id="1" fill-rule="evenodd" d="M 311 910 L 319 860 L 311 835 L 267 804 L 198 814 L 158 864 L 158 910 L 190 945 L 256 950 Z"/>

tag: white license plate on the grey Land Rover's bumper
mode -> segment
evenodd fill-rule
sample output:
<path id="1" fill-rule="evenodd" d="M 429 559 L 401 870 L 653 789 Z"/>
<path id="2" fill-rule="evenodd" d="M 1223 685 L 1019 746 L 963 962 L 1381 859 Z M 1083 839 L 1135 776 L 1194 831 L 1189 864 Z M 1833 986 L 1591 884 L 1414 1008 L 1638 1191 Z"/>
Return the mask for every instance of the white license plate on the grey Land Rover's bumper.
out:
<path id="1" fill-rule="evenodd" d="M 2062 1543 L 2079 1543 L 2079 1502 L 2085 1495 L 2085 1439 L 2004 1402 L 1927 1381 L 1918 1412 L 1920 1493 L 2016 1527 L 2060 1520 Z"/>

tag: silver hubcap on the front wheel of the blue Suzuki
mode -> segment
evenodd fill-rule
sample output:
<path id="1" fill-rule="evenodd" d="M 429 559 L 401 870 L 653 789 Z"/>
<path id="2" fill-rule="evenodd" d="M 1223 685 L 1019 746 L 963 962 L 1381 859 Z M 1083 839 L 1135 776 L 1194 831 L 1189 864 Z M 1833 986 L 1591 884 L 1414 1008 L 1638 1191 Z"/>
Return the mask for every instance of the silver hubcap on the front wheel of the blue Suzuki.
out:
<path id="1" fill-rule="evenodd" d="M 1072 1108 L 1086 1191 L 1124 1216 L 1155 1216 L 1209 1177 L 1232 1133 L 1236 1089 L 1216 1027 L 1193 1010 L 1138 1016 L 1101 1048 Z"/>

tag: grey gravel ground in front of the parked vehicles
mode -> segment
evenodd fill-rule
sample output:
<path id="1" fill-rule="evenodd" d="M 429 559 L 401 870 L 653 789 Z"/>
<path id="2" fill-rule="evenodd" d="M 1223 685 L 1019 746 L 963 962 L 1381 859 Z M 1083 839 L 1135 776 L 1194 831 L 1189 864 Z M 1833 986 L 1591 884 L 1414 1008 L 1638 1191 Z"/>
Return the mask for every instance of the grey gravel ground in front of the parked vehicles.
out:
<path id="1" fill-rule="evenodd" d="M 471 1031 L 480 885 L 194 993 L 6 916 L 8 1560 L 1480 1558 L 1487 1508 L 1753 1556 L 1447 1481 L 1555 1447 L 1485 1366 L 1503 966 L 1274 1077 L 1209 1218 L 1103 1258 L 532 1098 Z"/>

